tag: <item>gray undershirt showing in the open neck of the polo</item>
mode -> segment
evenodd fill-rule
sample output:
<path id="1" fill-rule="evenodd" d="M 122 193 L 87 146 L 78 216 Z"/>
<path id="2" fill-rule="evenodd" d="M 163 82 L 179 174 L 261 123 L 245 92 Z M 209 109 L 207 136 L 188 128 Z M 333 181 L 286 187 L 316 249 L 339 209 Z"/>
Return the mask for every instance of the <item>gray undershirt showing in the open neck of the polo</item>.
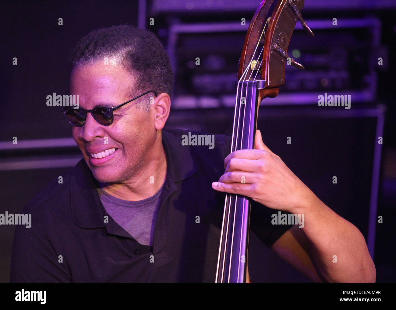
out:
<path id="1" fill-rule="evenodd" d="M 100 187 L 99 198 L 107 213 L 142 245 L 153 244 L 155 221 L 164 185 L 151 197 L 129 201 L 109 195 Z"/>

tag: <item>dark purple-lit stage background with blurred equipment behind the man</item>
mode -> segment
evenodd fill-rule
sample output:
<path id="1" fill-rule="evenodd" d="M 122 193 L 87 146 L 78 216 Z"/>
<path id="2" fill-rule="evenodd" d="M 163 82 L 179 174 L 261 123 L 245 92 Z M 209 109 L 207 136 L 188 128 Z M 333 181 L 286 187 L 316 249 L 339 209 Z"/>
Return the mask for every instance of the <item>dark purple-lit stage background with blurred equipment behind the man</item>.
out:
<path id="1" fill-rule="evenodd" d="M 164 43 L 175 71 L 166 126 L 231 134 L 238 59 L 258 6 L 253 0 L 3 4 L 0 213 L 19 213 L 82 157 L 59 107 L 46 106 L 47 95 L 69 92 L 67 57 L 78 39 L 112 25 L 151 30 Z M 306 70 L 286 66 L 286 85 L 278 97 L 263 100 L 258 122 L 267 146 L 327 206 L 360 229 L 377 282 L 396 280 L 395 9 L 396 2 L 385 0 L 307 0 L 303 15 L 315 37 L 297 23 L 289 45 Z M 317 97 L 325 92 L 351 95 L 351 109 L 319 107 Z M 286 144 L 288 136 L 292 144 Z M 383 223 L 377 223 L 379 215 Z M 14 229 L 0 226 L 0 282 L 9 282 Z M 249 273 L 253 282 L 309 282 L 254 234 Z"/>

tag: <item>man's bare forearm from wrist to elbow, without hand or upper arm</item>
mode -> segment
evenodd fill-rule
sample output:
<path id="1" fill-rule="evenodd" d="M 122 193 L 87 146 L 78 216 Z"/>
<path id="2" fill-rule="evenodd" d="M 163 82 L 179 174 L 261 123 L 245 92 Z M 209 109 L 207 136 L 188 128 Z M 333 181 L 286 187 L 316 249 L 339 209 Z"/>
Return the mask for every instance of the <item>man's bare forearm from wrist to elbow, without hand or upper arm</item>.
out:
<path id="1" fill-rule="evenodd" d="M 312 193 L 312 192 L 311 192 Z M 298 213 L 316 272 L 326 282 L 375 282 L 376 272 L 366 241 L 350 222 L 337 215 L 313 193 Z"/>

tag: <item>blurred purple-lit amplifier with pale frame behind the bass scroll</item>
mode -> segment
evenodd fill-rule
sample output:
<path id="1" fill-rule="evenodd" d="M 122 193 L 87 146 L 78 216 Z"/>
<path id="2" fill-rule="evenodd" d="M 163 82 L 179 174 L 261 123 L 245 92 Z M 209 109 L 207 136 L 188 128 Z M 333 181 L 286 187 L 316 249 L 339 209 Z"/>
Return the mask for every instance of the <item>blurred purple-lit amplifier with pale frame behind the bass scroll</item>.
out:
<path id="1" fill-rule="evenodd" d="M 265 104 L 318 104 L 318 96 L 350 95 L 372 102 L 377 89 L 381 22 L 374 17 L 307 20 L 311 38 L 297 23 L 288 53 L 305 66 L 286 65 L 286 83 Z M 234 106 L 236 72 L 247 26 L 240 22 L 169 26 L 168 53 L 175 70 L 173 108 Z"/>

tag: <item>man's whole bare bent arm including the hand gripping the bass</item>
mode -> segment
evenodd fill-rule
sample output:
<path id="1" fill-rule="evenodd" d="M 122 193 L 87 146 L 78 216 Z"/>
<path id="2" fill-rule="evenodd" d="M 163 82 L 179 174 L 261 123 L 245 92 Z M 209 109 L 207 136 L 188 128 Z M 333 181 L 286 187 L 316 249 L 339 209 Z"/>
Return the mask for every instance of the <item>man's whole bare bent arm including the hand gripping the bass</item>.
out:
<path id="1" fill-rule="evenodd" d="M 375 266 L 360 231 L 320 201 L 282 159 L 268 149 L 259 130 L 255 149 L 228 155 L 225 174 L 213 182 L 212 187 L 251 197 L 263 204 L 263 208 L 304 215 L 305 225 L 299 228 L 300 235 L 290 229 L 290 233 L 274 244 L 274 250 L 311 280 L 375 281 Z"/>

